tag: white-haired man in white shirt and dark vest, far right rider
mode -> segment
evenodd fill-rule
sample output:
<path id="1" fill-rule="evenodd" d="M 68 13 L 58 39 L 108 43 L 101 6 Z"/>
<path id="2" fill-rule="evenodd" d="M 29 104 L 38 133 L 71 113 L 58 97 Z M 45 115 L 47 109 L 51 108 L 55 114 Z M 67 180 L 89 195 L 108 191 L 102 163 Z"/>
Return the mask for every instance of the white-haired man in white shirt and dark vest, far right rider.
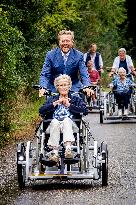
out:
<path id="1" fill-rule="evenodd" d="M 123 67 L 126 70 L 126 74 L 132 74 L 136 76 L 136 70 L 134 68 L 132 59 L 129 55 L 126 54 L 125 48 L 120 48 L 118 50 L 118 56 L 114 59 L 111 72 L 109 76 L 113 76 L 115 73 L 118 72 L 119 68 Z"/>

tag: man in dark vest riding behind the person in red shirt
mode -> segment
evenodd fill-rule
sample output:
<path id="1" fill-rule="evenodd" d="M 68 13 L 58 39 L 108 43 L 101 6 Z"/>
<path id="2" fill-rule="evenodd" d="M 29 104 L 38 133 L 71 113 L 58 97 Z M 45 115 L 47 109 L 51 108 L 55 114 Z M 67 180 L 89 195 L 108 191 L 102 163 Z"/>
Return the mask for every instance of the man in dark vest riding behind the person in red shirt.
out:
<path id="1" fill-rule="evenodd" d="M 102 60 L 101 54 L 97 52 L 97 45 L 95 43 L 92 43 L 90 45 L 89 51 L 84 54 L 84 62 L 86 66 L 89 60 L 93 60 L 95 69 L 101 75 L 101 73 L 104 72 L 103 71 L 103 60 Z"/>

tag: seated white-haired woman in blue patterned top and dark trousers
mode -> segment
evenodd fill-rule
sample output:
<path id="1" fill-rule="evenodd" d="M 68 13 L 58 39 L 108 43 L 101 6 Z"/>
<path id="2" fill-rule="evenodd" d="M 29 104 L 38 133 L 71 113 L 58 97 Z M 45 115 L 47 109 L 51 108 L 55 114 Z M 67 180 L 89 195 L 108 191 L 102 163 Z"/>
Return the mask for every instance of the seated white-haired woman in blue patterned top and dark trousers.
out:
<path id="1" fill-rule="evenodd" d="M 118 115 L 122 116 L 122 108 L 125 108 L 124 115 L 127 116 L 133 81 L 126 77 L 126 70 L 123 67 L 119 68 L 118 75 L 119 76 L 112 81 L 115 90 L 115 98 L 118 104 Z"/>

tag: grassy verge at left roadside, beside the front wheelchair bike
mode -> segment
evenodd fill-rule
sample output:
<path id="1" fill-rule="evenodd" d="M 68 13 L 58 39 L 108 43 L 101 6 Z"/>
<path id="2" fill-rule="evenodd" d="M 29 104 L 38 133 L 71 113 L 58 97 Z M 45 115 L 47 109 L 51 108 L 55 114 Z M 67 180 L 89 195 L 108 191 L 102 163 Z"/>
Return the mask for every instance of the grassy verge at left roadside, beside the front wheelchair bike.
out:
<path id="1" fill-rule="evenodd" d="M 16 136 L 22 138 L 28 133 L 31 134 L 36 121 L 39 119 L 39 108 L 44 103 L 45 98 L 39 98 L 34 102 L 19 101 L 19 106 L 15 106 L 14 110 L 10 113 L 12 116 L 10 131 L 5 132 L 0 137 L 0 148 L 5 147 L 7 144 L 14 142 Z"/>

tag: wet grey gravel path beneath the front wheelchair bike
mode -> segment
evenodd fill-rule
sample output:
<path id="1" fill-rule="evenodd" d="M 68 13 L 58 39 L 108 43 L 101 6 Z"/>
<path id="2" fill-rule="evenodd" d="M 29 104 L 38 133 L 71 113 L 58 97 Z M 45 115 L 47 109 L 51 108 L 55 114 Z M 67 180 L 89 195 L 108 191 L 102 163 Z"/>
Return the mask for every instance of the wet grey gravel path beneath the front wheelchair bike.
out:
<path id="1" fill-rule="evenodd" d="M 99 124 L 99 114 L 89 114 L 92 134 L 109 150 L 109 182 L 39 181 L 22 192 L 16 177 L 16 146 L 1 151 L 1 205 L 136 205 L 136 123 Z"/>

